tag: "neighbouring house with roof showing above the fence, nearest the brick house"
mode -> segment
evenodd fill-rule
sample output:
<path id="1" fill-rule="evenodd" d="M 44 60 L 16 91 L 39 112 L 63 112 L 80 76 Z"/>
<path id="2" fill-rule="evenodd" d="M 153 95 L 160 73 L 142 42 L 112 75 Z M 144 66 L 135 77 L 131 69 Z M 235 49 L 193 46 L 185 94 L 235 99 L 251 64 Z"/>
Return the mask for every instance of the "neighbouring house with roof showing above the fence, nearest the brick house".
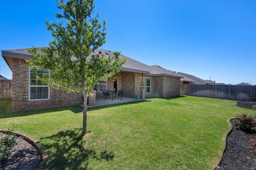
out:
<path id="1" fill-rule="evenodd" d="M 183 77 L 183 78 L 181 78 L 181 84 L 203 84 L 203 85 L 211 84 L 211 85 L 217 85 L 217 83 L 213 82 L 212 80 L 203 80 L 201 78 L 198 78 L 196 76 L 189 75 L 189 74 L 186 74 L 186 73 L 183 73 L 183 72 L 178 72 L 178 75 Z M 192 81 L 194 81 L 194 82 L 192 82 Z"/>

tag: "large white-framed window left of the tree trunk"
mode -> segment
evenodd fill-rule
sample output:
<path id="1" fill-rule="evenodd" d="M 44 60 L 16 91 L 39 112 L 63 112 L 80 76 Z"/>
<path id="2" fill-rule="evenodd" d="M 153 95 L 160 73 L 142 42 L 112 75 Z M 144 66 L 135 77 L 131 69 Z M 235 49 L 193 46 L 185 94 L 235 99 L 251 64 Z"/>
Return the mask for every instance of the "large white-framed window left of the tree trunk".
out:
<path id="1" fill-rule="evenodd" d="M 50 87 L 36 79 L 36 76 L 44 78 L 45 75 L 50 76 L 50 71 L 43 68 L 39 70 L 29 68 L 29 100 L 50 99 Z"/>

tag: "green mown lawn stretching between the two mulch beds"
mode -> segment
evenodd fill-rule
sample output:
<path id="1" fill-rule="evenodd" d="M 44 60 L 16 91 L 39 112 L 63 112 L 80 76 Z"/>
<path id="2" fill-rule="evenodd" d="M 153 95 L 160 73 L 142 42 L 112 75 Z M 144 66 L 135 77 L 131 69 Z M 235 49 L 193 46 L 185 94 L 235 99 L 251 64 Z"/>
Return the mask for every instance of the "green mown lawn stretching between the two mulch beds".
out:
<path id="1" fill-rule="evenodd" d="M 45 169 L 213 169 L 228 120 L 256 114 L 235 104 L 181 96 L 91 108 L 84 137 L 79 106 L 0 114 L 0 129 L 37 141 Z"/>

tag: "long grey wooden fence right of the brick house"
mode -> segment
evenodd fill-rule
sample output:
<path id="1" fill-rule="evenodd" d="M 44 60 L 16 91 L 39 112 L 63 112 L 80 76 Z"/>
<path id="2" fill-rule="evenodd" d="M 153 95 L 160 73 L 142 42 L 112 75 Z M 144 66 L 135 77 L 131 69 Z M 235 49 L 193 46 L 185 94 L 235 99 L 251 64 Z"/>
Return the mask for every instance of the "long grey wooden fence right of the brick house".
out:
<path id="1" fill-rule="evenodd" d="M 256 86 L 181 84 L 180 94 L 256 102 Z"/>

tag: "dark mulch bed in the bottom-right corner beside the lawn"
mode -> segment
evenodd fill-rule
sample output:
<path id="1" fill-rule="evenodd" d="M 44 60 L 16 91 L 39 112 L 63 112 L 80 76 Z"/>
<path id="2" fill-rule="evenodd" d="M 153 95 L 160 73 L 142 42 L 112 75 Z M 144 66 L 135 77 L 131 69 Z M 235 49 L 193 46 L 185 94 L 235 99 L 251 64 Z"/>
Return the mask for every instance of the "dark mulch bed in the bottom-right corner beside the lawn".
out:
<path id="1" fill-rule="evenodd" d="M 230 120 L 233 128 L 227 136 L 226 150 L 216 170 L 255 170 L 256 156 L 252 154 L 252 145 L 246 139 L 256 139 L 256 134 L 241 131 L 235 125 L 235 119 Z"/>

